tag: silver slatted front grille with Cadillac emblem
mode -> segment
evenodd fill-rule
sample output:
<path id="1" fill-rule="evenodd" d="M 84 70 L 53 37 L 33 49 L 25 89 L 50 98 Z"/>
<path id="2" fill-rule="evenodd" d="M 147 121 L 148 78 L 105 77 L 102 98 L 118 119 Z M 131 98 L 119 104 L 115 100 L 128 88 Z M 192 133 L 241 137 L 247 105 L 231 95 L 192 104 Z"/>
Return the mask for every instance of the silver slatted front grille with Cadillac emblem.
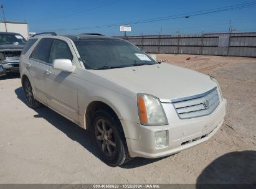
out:
<path id="1" fill-rule="evenodd" d="M 217 87 L 207 91 L 206 93 L 173 99 L 172 103 L 180 119 L 209 115 L 219 105 Z"/>

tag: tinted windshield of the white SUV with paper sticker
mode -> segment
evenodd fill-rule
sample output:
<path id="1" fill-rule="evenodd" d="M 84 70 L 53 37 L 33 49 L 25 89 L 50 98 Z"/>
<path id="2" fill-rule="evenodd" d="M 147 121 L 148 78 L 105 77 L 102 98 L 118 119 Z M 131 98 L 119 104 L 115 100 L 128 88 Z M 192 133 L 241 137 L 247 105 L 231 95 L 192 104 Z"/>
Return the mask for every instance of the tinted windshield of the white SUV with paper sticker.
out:
<path id="1" fill-rule="evenodd" d="M 157 64 L 125 40 L 85 39 L 74 41 L 85 68 L 100 70 Z"/>

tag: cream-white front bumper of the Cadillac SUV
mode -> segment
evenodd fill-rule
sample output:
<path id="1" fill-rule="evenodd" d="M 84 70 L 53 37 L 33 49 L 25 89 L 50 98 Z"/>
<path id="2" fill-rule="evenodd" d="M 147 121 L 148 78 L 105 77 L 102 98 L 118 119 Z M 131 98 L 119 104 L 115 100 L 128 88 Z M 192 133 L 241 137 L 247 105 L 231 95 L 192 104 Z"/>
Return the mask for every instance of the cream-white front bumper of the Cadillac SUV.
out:
<path id="1" fill-rule="evenodd" d="M 163 108 L 168 117 L 169 125 L 167 126 L 152 127 L 129 123 L 130 127 L 136 128 L 138 136 L 136 139 L 126 137 L 131 157 L 164 157 L 207 141 L 224 122 L 226 100 L 223 99 L 211 114 L 199 118 L 179 119 L 172 104 L 169 103 L 163 104 Z M 128 126 L 127 122 L 124 124 Z M 163 149 L 156 149 L 155 146 L 154 135 L 158 131 L 167 131 L 168 146 Z"/>

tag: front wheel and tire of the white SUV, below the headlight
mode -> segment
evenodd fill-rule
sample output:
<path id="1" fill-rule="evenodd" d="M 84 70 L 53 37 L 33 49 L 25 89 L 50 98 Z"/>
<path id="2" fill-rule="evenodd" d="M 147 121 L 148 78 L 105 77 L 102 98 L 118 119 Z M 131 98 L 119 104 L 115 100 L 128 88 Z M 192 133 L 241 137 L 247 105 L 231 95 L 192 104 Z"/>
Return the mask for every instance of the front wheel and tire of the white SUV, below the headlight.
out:
<path id="1" fill-rule="evenodd" d="M 121 122 L 111 111 L 95 112 L 91 135 L 105 164 L 116 167 L 131 159 Z"/>

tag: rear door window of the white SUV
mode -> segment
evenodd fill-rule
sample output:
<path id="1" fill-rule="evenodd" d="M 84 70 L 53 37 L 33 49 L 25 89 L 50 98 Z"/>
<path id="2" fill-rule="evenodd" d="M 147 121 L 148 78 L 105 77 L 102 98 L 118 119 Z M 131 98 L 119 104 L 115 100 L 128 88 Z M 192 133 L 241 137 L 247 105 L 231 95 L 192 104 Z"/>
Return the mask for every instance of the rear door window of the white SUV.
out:
<path id="1" fill-rule="evenodd" d="M 34 49 L 34 51 L 32 52 L 31 58 L 35 58 L 36 60 L 49 63 L 50 48 L 52 48 L 53 42 L 54 39 L 41 39 L 37 44 L 36 48 Z"/>

